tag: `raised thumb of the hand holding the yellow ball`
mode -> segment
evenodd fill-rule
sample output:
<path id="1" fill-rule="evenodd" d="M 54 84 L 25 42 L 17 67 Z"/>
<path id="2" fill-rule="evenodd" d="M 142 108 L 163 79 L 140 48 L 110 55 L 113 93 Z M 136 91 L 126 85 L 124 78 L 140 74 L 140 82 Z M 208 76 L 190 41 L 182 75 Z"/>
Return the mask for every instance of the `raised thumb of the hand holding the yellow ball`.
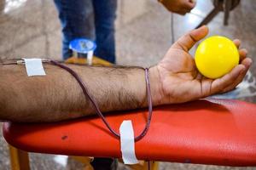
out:
<path id="1" fill-rule="evenodd" d="M 188 52 L 190 48 L 195 45 L 195 42 L 198 42 L 202 38 L 206 37 L 208 34 L 208 27 L 201 26 L 198 29 L 189 31 L 183 37 L 180 37 L 177 42 L 172 45 L 172 48 L 180 48 Z"/>

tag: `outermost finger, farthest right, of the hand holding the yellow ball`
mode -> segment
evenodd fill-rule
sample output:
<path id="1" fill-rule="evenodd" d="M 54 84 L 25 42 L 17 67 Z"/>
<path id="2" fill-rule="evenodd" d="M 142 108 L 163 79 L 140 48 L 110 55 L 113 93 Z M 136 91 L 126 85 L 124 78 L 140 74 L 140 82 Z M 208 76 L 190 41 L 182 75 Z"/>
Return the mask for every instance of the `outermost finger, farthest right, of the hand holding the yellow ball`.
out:
<path id="1" fill-rule="evenodd" d="M 240 75 L 236 78 L 236 81 L 232 84 L 230 84 L 230 86 L 228 86 L 227 88 L 224 88 L 224 90 L 222 91 L 222 93 L 226 93 L 229 92 L 230 90 L 236 88 L 236 86 L 242 82 L 243 78 L 246 76 L 247 71 L 249 70 L 250 66 L 252 65 L 252 59 L 243 59 L 241 62 L 241 65 L 245 65 L 245 70 L 241 71 Z"/>

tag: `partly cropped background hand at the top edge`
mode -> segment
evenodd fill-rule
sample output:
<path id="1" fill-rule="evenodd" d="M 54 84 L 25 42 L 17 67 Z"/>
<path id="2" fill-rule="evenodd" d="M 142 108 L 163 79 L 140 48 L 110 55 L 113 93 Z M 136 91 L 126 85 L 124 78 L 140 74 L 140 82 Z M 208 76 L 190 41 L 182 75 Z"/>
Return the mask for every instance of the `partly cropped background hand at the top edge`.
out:
<path id="1" fill-rule="evenodd" d="M 159 0 L 169 11 L 177 14 L 189 13 L 195 7 L 195 0 Z"/>

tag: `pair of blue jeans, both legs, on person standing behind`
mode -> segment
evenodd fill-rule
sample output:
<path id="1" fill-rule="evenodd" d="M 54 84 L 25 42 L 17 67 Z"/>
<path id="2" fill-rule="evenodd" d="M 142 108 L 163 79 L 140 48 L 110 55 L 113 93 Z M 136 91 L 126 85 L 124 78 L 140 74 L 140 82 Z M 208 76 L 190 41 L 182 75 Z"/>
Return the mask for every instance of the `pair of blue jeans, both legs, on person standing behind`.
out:
<path id="1" fill-rule="evenodd" d="M 117 0 L 54 0 L 62 27 L 62 57 L 73 56 L 69 42 L 84 37 L 96 41 L 95 55 L 115 63 L 114 20 Z M 82 55 L 83 54 L 79 54 Z"/>

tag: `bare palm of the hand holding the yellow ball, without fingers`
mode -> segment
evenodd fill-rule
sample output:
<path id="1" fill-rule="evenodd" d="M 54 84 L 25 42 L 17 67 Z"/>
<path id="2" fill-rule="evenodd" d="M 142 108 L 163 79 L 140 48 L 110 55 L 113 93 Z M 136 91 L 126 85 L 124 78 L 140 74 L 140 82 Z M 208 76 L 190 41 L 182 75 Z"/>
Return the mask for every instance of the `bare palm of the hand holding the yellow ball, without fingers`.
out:
<path id="1" fill-rule="evenodd" d="M 181 103 L 211 94 L 212 79 L 201 76 L 189 53 L 179 48 L 171 48 L 166 55 L 158 69 L 166 75 L 162 79 L 162 85 L 169 99 L 173 100 L 172 96 L 175 96 L 176 102 Z"/>

